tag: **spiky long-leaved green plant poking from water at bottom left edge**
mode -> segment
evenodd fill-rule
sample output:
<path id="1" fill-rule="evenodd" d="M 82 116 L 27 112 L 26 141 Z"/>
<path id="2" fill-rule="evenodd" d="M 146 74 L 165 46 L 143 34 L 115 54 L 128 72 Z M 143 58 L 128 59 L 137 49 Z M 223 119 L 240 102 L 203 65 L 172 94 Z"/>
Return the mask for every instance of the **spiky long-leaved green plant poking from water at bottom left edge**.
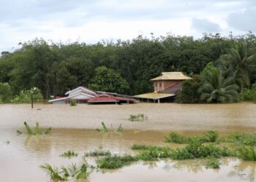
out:
<path id="1" fill-rule="evenodd" d="M 49 164 L 40 165 L 53 181 L 68 181 L 72 178 L 75 180 L 86 179 L 93 172 L 94 166 L 88 165 L 86 159 L 83 157 L 78 164 L 69 165 L 69 167 L 52 167 Z"/>

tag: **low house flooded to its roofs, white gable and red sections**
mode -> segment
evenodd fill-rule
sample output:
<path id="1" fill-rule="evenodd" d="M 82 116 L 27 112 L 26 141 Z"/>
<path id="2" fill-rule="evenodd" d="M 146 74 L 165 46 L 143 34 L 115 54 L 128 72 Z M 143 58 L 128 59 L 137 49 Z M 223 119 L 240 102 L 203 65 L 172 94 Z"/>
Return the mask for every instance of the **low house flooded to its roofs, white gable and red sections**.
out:
<path id="1" fill-rule="evenodd" d="M 49 100 L 53 104 L 69 103 L 76 100 L 77 103 L 136 103 L 138 100 L 129 95 L 120 95 L 111 92 L 90 90 L 87 87 L 78 87 L 65 93 L 66 97 Z"/>

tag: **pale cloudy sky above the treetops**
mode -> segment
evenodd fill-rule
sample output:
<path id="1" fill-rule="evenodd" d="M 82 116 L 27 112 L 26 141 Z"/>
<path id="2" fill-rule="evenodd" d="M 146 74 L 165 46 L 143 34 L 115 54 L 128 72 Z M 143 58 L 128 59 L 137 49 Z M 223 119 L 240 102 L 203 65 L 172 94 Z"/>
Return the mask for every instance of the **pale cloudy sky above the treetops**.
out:
<path id="1" fill-rule="evenodd" d="M 0 52 L 53 41 L 256 32 L 256 0 L 0 0 Z"/>

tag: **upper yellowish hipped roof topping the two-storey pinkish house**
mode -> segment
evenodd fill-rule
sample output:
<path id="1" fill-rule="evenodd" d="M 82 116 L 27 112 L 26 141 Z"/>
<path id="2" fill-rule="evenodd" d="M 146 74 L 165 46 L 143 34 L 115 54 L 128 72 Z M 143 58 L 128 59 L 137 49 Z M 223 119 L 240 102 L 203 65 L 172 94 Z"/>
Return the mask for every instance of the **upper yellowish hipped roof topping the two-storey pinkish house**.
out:
<path id="1" fill-rule="evenodd" d="M 151 81 L 158 81 L 158 80 L 186 80 L 192 79 L 189 76 L 185 76 L 181 72 L 162 72 L 160 76 L 157 78 L 151 79 Z"/>

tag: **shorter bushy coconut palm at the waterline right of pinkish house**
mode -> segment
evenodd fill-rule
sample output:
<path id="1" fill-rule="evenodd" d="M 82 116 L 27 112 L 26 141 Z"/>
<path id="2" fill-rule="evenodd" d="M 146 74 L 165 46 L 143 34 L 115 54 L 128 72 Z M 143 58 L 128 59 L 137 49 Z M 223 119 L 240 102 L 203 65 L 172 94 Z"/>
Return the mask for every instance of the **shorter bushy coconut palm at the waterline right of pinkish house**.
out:
<path id="1" fill-rule="evenodd" d="M 207 103 L 231 103 L 238 98 L 238 86 L 232 84 L 232 79 L 225 79 L 219 68 L 210 68 L 203 77 L 200 100 Z"/>

